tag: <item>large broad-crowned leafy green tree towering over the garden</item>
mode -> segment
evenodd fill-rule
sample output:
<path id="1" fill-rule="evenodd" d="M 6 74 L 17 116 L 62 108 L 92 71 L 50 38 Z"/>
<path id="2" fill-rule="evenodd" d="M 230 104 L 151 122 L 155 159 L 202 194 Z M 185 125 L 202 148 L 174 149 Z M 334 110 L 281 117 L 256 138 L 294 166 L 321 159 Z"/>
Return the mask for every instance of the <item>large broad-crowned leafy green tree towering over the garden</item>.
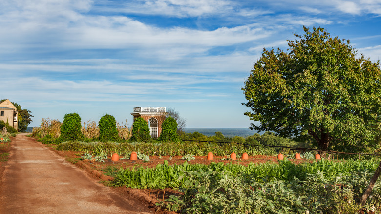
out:
<path id="1" fill-rule="evenodd" d="M 320 149 L 364 150 L 375 143 L 369 127 L 381 111 L 381 72 L 323 28 L 304 27 L 286 51 L 263 50 L 244 91 L 251 129 L 295 140 L 314 139 Z"/>

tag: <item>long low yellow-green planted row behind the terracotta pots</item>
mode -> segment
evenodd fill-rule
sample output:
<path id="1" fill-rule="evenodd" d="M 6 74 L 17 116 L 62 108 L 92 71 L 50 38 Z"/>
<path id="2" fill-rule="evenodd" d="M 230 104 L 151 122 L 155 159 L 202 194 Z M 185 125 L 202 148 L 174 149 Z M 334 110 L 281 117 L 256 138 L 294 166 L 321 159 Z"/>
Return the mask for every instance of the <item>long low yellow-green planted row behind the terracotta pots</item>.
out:
<path id="1" fill-rule="evenodd" d="M 93 156 L 107 155 L 111 156 L 117 153 L 119 156 L 129 157 L 132 151 L 148 156 L 207 156 L 212 152 L 216 156 L 230 156 L 233 152 L 238 156 L 247 153 L 254 155 L 275 155 L 273 148 L 264 148 L 261 145 L 242 145 L 229 143 L 220 146 L 218 143 L 206 142 L 161 142 L 161 143 L 137 143 L 137 142 L 80 142 L 67 141 L 59 144 L 56 150 L 67 151 L 85 151 L 92 153 Z M 292 156 L 292 155 L 290 155 Z"/>

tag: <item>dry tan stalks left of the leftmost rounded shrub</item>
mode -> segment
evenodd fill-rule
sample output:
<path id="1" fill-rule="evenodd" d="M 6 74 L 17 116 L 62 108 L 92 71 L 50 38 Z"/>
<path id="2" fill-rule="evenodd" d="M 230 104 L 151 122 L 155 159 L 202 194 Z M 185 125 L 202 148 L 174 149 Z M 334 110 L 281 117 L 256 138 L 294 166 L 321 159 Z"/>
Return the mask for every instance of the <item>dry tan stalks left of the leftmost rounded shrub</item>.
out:
<path id="1" fill-rule="evenodd" d="M 61 122 L 58 120 L 52 120 L 49 118 L 42 118 L 40 127 L 34 127 L 32 131 L 33 136 L 40 138 L 50 134 L 54 138 L 58 138 L 61 135 Z"/>

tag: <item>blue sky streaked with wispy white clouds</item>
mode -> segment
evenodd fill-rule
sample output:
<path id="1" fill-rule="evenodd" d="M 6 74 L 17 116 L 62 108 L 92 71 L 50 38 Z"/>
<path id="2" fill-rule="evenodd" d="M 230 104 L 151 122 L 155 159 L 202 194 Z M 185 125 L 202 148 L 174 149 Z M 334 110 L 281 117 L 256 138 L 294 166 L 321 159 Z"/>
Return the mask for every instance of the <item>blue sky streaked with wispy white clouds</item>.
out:
<path id="1" fill-rule="evenodd" d="M 242 87 L 303 26 L 381 58 L 381 0 L 0 0 L 0 99 L 82 122 L 170 107 L 189 128 L 249 128 Z"/>

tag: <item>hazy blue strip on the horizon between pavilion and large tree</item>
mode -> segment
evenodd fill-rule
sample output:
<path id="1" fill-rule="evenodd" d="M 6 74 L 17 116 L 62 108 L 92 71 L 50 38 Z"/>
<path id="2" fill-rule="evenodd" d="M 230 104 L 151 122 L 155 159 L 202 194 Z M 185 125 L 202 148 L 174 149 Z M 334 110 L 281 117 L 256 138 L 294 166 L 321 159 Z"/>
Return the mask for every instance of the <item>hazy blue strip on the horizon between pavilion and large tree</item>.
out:
<path id="1" fill-rule="evenodd" d="M 249 128 L 184 128 L 184 132 L 186 133 L 199 132 L 206 136 L 213 136 L 217 131 L 221 132 L 225 137 L 247 137 L 257 133 L 257 131 L 252 131 Z M 259 134 L 263 133 L 264 132 L 259 132 Z"/>

